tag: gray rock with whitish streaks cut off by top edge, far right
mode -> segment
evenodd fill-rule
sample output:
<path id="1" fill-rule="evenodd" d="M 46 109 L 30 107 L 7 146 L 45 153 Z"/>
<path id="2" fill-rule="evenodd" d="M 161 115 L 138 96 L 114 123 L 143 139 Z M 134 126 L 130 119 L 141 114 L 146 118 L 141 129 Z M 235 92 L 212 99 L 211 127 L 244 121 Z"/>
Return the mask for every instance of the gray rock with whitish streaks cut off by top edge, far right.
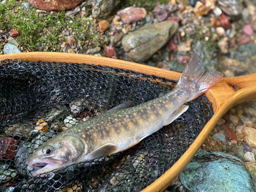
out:
<path id="1" fill-rule="evenodd" d="M 237 0 L 218 0 L 219 8 L 230 16 L 239 16 L 242 13 L 243 6 Z"/>

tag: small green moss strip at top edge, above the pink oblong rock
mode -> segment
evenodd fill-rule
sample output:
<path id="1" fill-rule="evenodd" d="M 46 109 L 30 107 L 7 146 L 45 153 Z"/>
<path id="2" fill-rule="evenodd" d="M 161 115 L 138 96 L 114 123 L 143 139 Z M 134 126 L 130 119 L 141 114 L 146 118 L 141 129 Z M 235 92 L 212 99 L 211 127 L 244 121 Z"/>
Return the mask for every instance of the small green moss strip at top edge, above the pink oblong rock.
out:
<path id="1" fill-rule="evenodd" d="M 152 11 L 157 5 L 160 4 L 167 4 L 169 0 L 147 0 L 147 1 L 141 1 L 141 0 L 126 0 L 122 1 L 120 4 L 120 8 L 124 9 L 126 7 L 131 7 L 135 5 L 135 7 L 143 7 L 146 9 L 147 12 Z"/>

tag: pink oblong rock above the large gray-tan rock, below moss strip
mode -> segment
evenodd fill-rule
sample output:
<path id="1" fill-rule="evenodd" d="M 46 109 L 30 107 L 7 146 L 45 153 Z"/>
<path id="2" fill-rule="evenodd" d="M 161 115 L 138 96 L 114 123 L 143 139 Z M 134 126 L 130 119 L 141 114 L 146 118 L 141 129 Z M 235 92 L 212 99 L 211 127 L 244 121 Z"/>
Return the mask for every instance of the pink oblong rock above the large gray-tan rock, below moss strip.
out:
<path id="1" fill-rule="evenodd" d="M 117 12 L 125 24 L 131 24 L 138 22 L 139 20 L 145 18 L 146 10 L 140 7 L 127 7 Z"/>

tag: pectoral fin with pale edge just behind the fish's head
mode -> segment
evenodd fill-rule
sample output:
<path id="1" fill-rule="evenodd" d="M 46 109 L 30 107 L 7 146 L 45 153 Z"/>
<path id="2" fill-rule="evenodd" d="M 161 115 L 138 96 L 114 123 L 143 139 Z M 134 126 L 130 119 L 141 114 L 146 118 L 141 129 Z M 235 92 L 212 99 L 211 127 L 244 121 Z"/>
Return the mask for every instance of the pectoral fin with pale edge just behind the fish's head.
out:
<path id="1" fill-rule="evenodd" d="M 97 157 L 102 157 L 102 156 L 107 156 L 107 155 L 113 154 L 113 152 L 115 152 L 117 149 L 118 149 L 118 146 L 116 146 L 112 143 L 107 143 L 107 144 L 104 144 L 104 145 L 96 148 L 96 150 L 89 153 L 88 156 L 90 159 L 95 159 Z"/>

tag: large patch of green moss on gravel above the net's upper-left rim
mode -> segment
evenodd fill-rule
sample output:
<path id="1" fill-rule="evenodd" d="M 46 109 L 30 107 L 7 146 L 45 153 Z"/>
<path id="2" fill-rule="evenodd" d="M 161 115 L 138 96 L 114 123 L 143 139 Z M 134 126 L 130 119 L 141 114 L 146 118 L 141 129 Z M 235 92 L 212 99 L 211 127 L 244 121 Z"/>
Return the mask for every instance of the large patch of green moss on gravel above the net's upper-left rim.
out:
<path id="1" fill-rule="evenodd" d="M 64 31 L 68 31 L 76 42 L 80 40 L 81 46 L 86 44 L 86 40 L 99 46 L 97 34 L 88 30 L 92 22 L 88 13 L 83 16 L 80 13 L 65 16 L 63 11 L 55 15 L 50 12 L 38 13 L 35 7 L 26 9 L 15 0 L 0 6 L 0 29 L 7 32 L 17 29 L 19 35 L 15 38 L 22 51 L 60 51 L 62 41 L 67 41 Z M 3 45 L 0 45 L 0 50 L 3 50 Z"/>

